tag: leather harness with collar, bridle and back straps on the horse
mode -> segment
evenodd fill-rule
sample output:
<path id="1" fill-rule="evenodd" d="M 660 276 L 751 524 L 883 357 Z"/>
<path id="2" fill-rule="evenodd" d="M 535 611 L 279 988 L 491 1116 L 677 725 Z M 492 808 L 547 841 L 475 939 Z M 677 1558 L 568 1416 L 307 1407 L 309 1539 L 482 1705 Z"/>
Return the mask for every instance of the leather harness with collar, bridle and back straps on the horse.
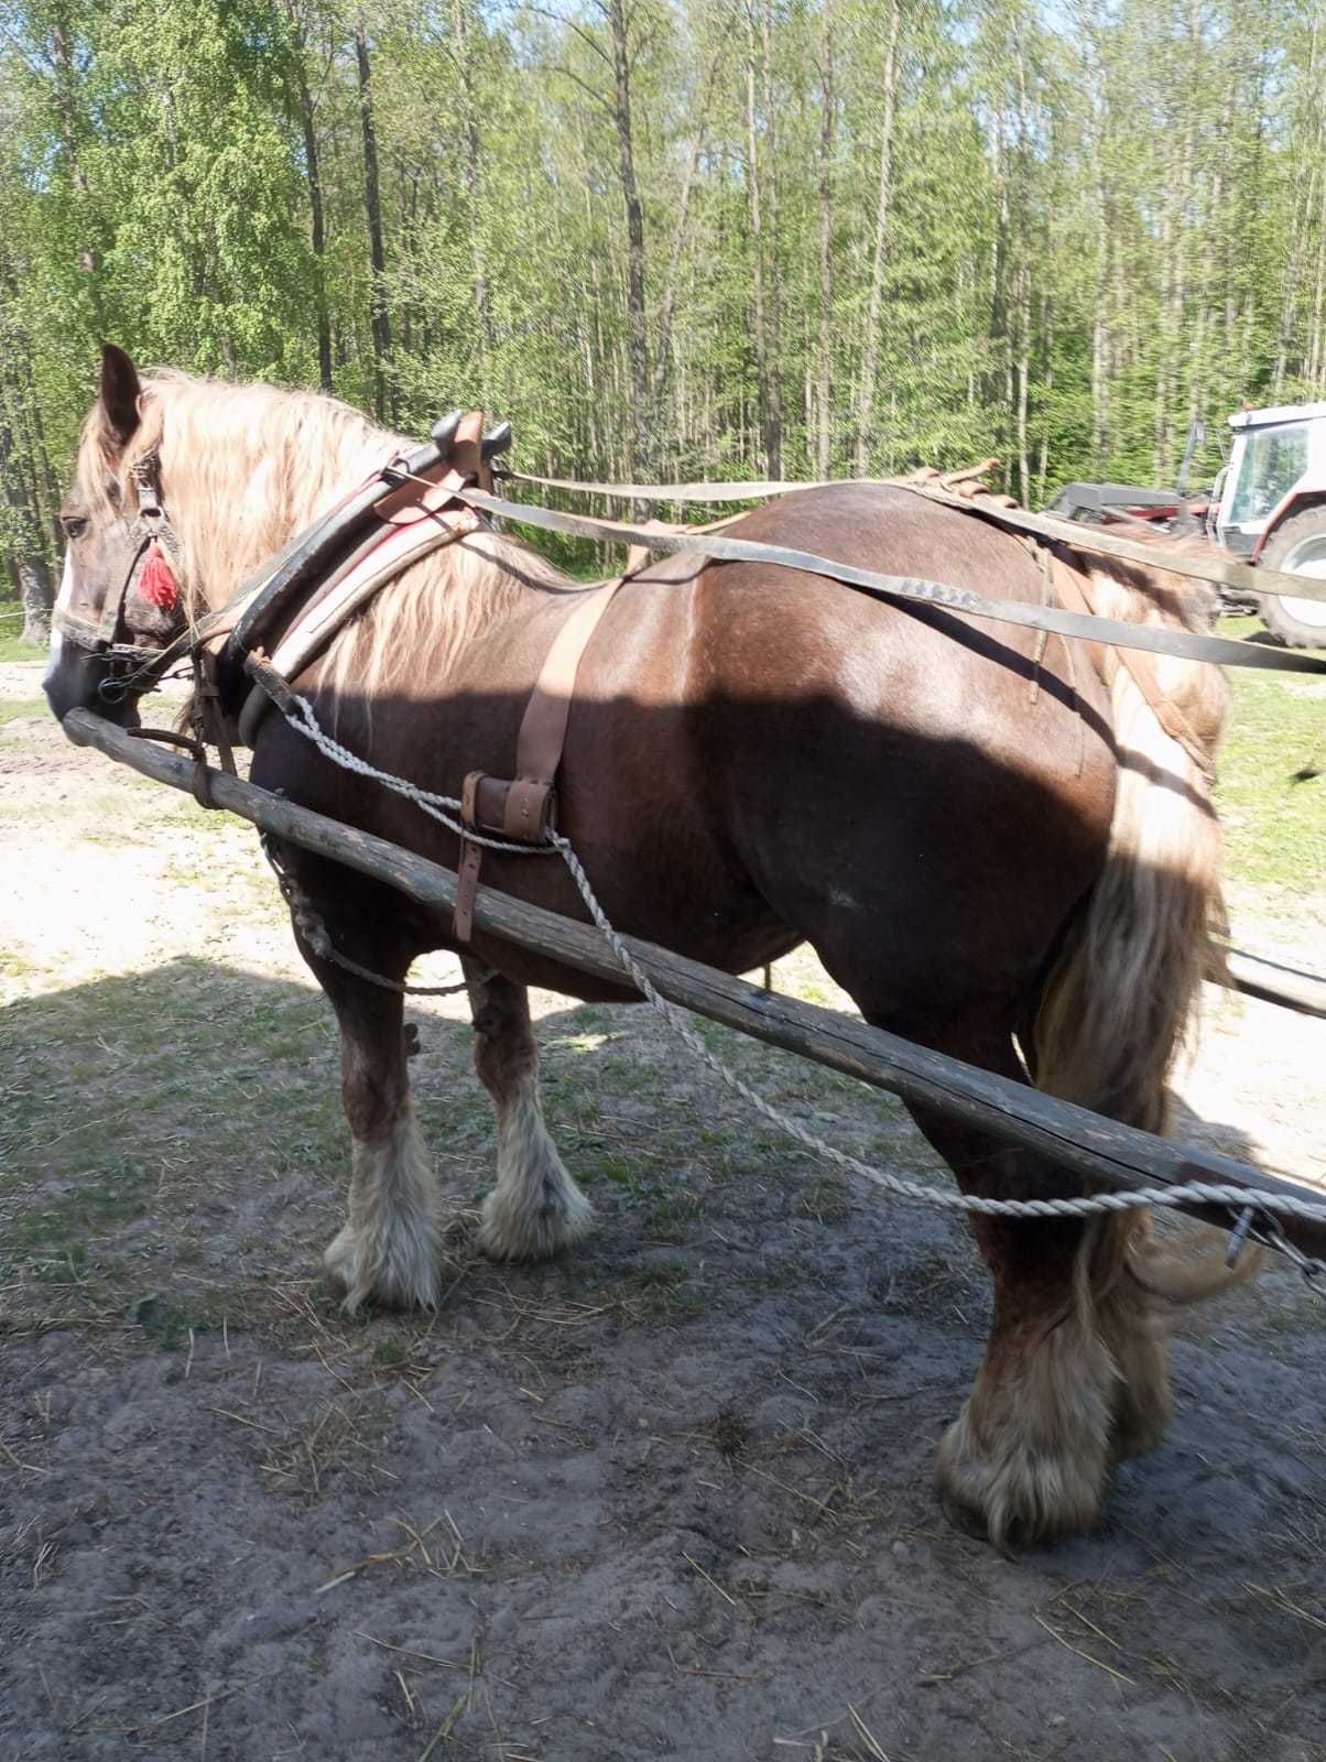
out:
<path id="1" fill-rule="evenodd" d="M 555 779 L 561 768 L 580 659 L 622 581 L 629 580 L 652 552 L 693 548 L 718 559 L 769 560 L 785 567 L 827 574 L 869 594 L 901 596 L 903 601 L 926 599 L 957 611 L 982 608 L 987 615 L 993 613 L 1005 622 L 1030 626 L 1039 633 L 1033 657 L 1033 698 L 1049 633 L 1091 638 L 1097 645 L 1095 664 L 1102 678 L 1109 680 L 1113 668 L 1125 666 L 1164 729 L 1206 774 L 1211 770 L 1210 756 L 1201 740 L 1160 689 L 1150 654 L 1143 654 L 1139 648 L 1180 654 L 1203 650 L 1201 659 L 1225 659 L 1224 654 L 1217 655 L 1213 650 L 1236 645 L 1176 631 L 1166 631 L 1164 640 L 1157 640 L 1158 633 L 1148 631 L 1144 626 L 1118 626 L 1102 620 L 1097 613 L 1090 576 L 1069 560 L 1076 546 L 1054 543 L 1053 537 L 1047 541 L 1044 536 L 1030 532 L 1016 500 L 1007 495 L 993 495 L 986 488 L 984 474 L 991 465 L 947 476 L 924 470 L 913 478 L 887 479 L 887 483 L 961 509 L 968 516 L 993 522 L 1017 536 L 1042 571 L 1046 592 L 1040 606 L 980 601 L 966 590 L 940 583 L 876 576 L 873 571 L 831 564 L 827 559 L 785 546 L 723 537 L 721 529 L 730 520 L 741 518 L 735 515 L 705 527 L 672 527 L 663 522 L 628 527 L 610 520 L 585 520 L 524 504 L 508 504 L 494 495 L 490 460 L 510 446 L 510 423 L 485 435 L 481 412 L 467 416 L 458 411 L 451 412 L 436 425 L 430 446 L 413 455 L 390 458 L 314 527 L 298 532 L 282 552 L 263 562 L 238 587 L 226 606 L 190 622 L 164 650 L 115 640 L 123 601 L 148 548 L 153 541 L 162 541 L 171 555 L 178 557 L 180 550 L 162 499 L 153 488 L 155 460 L 145 460 L 134 470 L 138 516 L 130 536 L 139 537 L 139 544 L 125 578 L 108 597 L 95 622 L 78 618 L 67 608 L 56 611 L 55 622 L 71 641 L 111 663 L 111 671 L 101 687 L 108 698 L 150 691 L 176 661 L 189 657 L 196 687 L 194 738 L 189 740 L 164 729 L 136 729 L 136 733 L 141 738 L 168 740 L 189 749 L 196 761 L 194 793 L 203 805 L 212 807 L 208 742 L 219 747 L 222 768 L 233 772 L 229 731 L 235 729 L 243 745 L 254 745 L 266 708 L 275 703 L 282 710 L 289 710 L 298 703 L 289 691 L 289 680 L 326 648 L 349 617 L 369 604 L 388 581 L 434 550 L 481 530 L 487 523 L 485 516 L 513 515 L 557 530 L 584 530 L 594 537 L 629 541 L 633 548 L 626 573 L 577 596 L 552 641 L 520 722 L 515 775 L 503 779 L 471 772 L 464 781 L 460 798 L 464 832 L 453 918 L 453 934 L 460 943 L 467 943 L 473 934 L 474 897 L 487 839 L 497 837 L 525 848 L 550 848 Z M 709 492 L 711 486 L 704 488 Z M 718 488 L 714 486 L 714 492 Z M 712 500 L 718 495 L 707 493 L 707 499 Z M 1120 631 L 1127 631 L 1123 636 L 1127 647 L 1109 647 L 1109 638 Z M 1114 636 L 1114 641 L 1120 638 Z M 266 645 L 270 645 L 270 654 Z M 1069 645 L 1069 654 L 1072 655 L 1072 645 Z"/>

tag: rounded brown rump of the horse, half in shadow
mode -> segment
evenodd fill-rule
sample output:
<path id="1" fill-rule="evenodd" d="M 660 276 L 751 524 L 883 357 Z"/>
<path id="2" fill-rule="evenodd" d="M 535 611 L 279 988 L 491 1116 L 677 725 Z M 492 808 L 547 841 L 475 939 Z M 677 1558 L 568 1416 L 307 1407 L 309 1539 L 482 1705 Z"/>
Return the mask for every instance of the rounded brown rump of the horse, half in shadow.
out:
<path id="1" fill-rule="evenodd" d="M 730 530 L 1044 592 L 1026 546 L 885 485 L 808 490 Z M 924 1033 L 968 988 L 1016 1008 L 1106 856 L 1114 758 L 1086 657 L 756 562 L 709 564 L 688 624 L 684 774 L 760 899 L 876 1018 Z"/>

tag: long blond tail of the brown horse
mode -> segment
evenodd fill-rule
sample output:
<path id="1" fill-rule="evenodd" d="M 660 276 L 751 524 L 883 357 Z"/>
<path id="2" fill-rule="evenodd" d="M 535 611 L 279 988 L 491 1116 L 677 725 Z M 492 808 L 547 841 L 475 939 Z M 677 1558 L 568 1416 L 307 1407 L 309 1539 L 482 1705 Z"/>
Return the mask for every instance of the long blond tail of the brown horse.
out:
<path id="1" fill-rule="evenodd" d="M 1224 687 L 1183 680 L 1192 721 L 1215 745 Z M 1171 680 L 1166 680 L 1171 684 Z M 1211 712 L 1211 694 L 1215 708 Z M 1176 692 L 1181 703 L 1181 692 Z M 1220 826 L 1210 777 L 1169 735 L 1123 664 L 1111 684 L 1118 782 L 1109 853 L 1100 877 L 1070 925 L 1044 987 L 1033 1025 L 1037 1087 L 1111 1119 L 1162 1133 L 1169 1124 L 1166 1080 L 1190 1027 L 1203 974 L 1224 929 Z M 1091 1284 L 1100 1290 L 1129 1272 L 1173 1302 L 1206 1297 L 1245 1276 L 1222 1262 L 1206 1265 L 1160 1255 L 1146 1212 L 1123 1212 L 1093 1232 Z"/>

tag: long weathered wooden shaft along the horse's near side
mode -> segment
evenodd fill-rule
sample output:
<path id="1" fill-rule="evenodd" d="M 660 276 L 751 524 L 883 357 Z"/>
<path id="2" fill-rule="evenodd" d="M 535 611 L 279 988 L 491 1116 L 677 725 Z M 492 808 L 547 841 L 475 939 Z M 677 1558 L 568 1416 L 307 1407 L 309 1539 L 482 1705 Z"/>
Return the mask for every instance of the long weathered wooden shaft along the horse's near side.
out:
<path id="1" fill-rule="evenodd" d="M 148 740 L 86 710 L 71 710 L 63 728 L 76 745 L 92 745 L 120 765 L 166 782 L 175 789 L 192 789 L 194 766 Z M 252 825 L 289 839 L 319 856 L 330 856 L 347 869 L 386 881 L 399 892 L 437 911 L 455 906 L 457 877 L 450 869 L 414 856 L 384 839 L 346 826 L 337 819 L 296 807 L 266 789 L 222 772 L 210 774 L 213 800 Z M 481 930 L 518 948 L 531 948 L 592 978 L 621 985 L 622 971 L 603 937 L 592 925 L 577 923 L 559 913 L 543 911 L 508 899 L 492 888 L 480 888 L 474 922 Z M 956 1119 L 989 1131 L 993 1136 L 1019 1144 L 1051 1158 L 1063 1168 L 1088 1177 L 1097 1186 L 1137 1189 L 1167 1184 L 1211 1182 L 1247 1188 L 1248 1198 L 1257 1193 L 1284 1195 L 1298 1200 L 1321 1200 L 1326 1195 L 1277 1181 L 1247 1163 L 1218 1156 L 1192 1144 L 1157 1138 L 1118 1121 L 1104 1119 L 1088 1108 L 1058 1101 L 1030 1089 L 963 1064 L 940 1052 L 913 1045 L 898 1034 L 868 1027 L 864 1022 L 764 992 L 744 980 L 732 978 L 698 960 L 668 953 L 654 943 L 624 937 L 631 955 L 640 962 L 658 990 L 712 1022 L 741 1029 L 755 1040 L 765 1040 L 786 1052 L 797 1052 L 829 1070 L 857 1077 L 876 1089 L 887 1089 L 905 1101 L 919 1101 Z M 1229 1228 L 1240 1207 L 1204 1205 L 1187 1207 L 1192 1216 Z M 1326 1256 L 1326 1223 L 1301 1218 L 1280 1219 L 1285 1237 L 1307 1255 Z"/>

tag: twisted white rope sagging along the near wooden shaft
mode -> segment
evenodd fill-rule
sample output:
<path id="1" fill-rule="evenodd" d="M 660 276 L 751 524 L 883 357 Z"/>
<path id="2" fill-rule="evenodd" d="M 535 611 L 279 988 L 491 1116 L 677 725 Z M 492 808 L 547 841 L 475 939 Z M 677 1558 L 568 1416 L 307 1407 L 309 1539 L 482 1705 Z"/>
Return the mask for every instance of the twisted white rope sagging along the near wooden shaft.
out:
<path id="1" fill-rule="evenodd" d="M 575 855 L 570 839 L 561 837 L 557 832 L 550 832 L 548 844 L 527 846 L 478 837 L 467 826 L 460 825 L 453 814 L 446 812 L 448 809 L 455 812 L 460 811 L 457 796 L 437 795 L 430 789 L 421 789 L 418 784 L 413 784 L 404 777 L 393 777 L 390 772 L 377 770 L 376 765 L 369 765 L 367 759 L 361 759 L 347 747 L 342 747 L 339 740 L 333 740 L 319 726 L 307 698 L 296 698 L 294 701 L 300 708 L 300 719 L 284 712 L 286 721 L 296 729 L 296 733 L 302 733 L 307 740 L 310 740 L 319 752 L 330 758 L 335 765 L 340 765 L 344 770 L 354 772 L 360 777 L 370 777 L 374 782 L 381 782 L 384 788 L 393 789 L 397 795 L 414 802 L 425 814 L 441 821 L 441 825 L 448 826 L 448 830 L 455 832 L 458 837 L 467 839 L 473 844 L 481 844 L 485 849 L 503 851 L 506 855 L 547 856 L 550 851 L 557 851 L 580 892 L 580 899 L 585 902 L 585 909 L 594 920 L 594 925 L 601 932 L 605 943 L 621 962 L 626 976 L 645 997 L 645 1001 L 663 1017 L 674 1034 L 677 1034 L 677 1038 L 697 1055 L 697 1059 L 700 1059 L 700 1062 L 711 1070 L 714 1077 L 726 1084 L 728 1089 L 739 1094 L 742 1101 L 749 1103 L 749 1107 L 762 1114 L 779 1131 L 795 1138 L 815 1156 L 834 1163 L 838 1168 L 857 1175 L 860 1181 L 883 1189 L 894 1198 L 913 1200 L 920 1205 L 935 1205 L 942 1210 L 977 1212 L 982 1218 L 1093 1218 L 1102 1212 L 1144 1210 L 1150 1207 L 1181 1210 L 1188 1205 L 1231 1205 L 1240 1212 L 1273 1212 L 1287 1218 L 1305 1218 L 1312 1223 L 1326 1223 L 1326 1203 L 1314 1205 L 1308 1200 L 1300 1200 L 1287 1193 L 1263 1193 L 1261 1189 L 1252 1188 L 1185 1182 L 1183 1186 L 1136 1188 L 1123 1193 L 1093 1193 L 1081 1198 L 991 1200 L 980 1198 L 975 1193 L 943 1193 L 936 1188 L 922 1186 L 917 1181 L 905 1181 L 901 1175 L 890 1175 L 882 1168 L 873 1168 L 869 1163 L 862 1163 L 860 1158 L 836 1149 L 836 1145 L 827 1144 L 823 1138 L 816 1138 L 815 1133 L 808 1131 L 799 1121 L 779 1112 L 779 1108 L 765 1101 L 758 1091 L 751 1089 L 749 1084 L 737 1077 L 734 1070 L 711 1052 L 711 1048 L 686 1020 L 686 1013 L 661 996 L 654 981 L 626 946 L 622 936 L 608 922 L 607 913 L 598 902 L 598 895 L 589 885 L 584 863 Z M 1261 1239 L 1264 1240 L 1266 1237 L 1263 1235 Z M 1326 1262 L 1312 1260 L 1303 1255 L 1291 1242 L 1285 1242 L 1278 1232 L 1273 1233 L 1270 1246 L 1289 1255 L 1289 1258 L 1294 1260 L 1305 1272 L 1315 1274 L 1326 1270 Z"/>

